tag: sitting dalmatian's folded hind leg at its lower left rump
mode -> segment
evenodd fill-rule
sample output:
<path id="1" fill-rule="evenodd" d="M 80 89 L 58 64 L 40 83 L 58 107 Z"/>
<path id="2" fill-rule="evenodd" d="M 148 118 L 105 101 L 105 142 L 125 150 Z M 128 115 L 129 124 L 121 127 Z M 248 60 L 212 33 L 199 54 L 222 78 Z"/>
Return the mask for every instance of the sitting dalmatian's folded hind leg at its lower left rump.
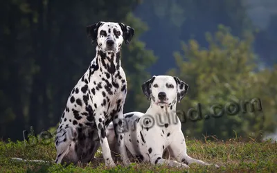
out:
<path id="1" fill-rule="evenodd" d="M 75 128 L 65 127 L 62 129 L 57 129 L 57 135 L 55 138 L 55 147 L 57 150 L 57 156 L 55 163 L 62 163 L 64 156 L 69 154 L 69 152 L 74 151 L 73 140 L 77 138 L 78 134 Z M 76 157 L 76 156 L 75 156 Z M 75 161 L 73 161 L 75 163 Z"/>

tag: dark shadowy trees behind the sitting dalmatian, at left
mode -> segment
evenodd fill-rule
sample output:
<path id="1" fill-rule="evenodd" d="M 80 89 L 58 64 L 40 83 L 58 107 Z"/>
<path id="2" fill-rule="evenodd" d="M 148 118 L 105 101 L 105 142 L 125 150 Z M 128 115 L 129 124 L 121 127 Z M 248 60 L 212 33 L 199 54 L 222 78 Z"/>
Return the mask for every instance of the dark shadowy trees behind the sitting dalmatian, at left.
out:
<path id="1" fill-rule="evenodd" d="M 20 140 L 21 131 L 30 125 L 39 133 L 59 122 L 69 93 L 95 55 L 86 26 L 98 21 L 125 21 L 136 29 L 132 44 L 123 46 L 122 60 L 129 84 L 125 110 L 135 109 L 140 104 L 135 98 L 142 93 L 136 82 L 145 80 L 144 69 L 154 60 L 137 39 L 145 30 L 145 24 L 130 13 L 137 3 L 5 1 L 0 33 L 6 40 L 0 55 L 0 136 Z"/>

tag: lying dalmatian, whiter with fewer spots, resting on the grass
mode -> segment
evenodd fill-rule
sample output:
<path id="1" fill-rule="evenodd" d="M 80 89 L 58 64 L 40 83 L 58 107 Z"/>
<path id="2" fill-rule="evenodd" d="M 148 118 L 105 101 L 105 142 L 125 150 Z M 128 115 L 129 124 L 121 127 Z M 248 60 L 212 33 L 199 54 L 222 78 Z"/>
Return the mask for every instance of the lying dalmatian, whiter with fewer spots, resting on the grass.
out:
<path id="1" fill-rule="evenodd" d="M 181 131 L 181 122 L 176 114 L 176 104 L 188 92 L 188 84 L 177 77 L 159 75 L 145 82 L 142 89 L 150 100 L 150 107 L 146 113 L 124 114 L 127 122 L 124 140 L 129 158 L 137 158 L 140 162 L 150 161 L 152 165 L 163 163 L 168 166 L 182 167 L 189 167 L 188 165 L 192 163 L 211 165 L 191 158 L 186 152 L 186 142 Z M 173 123 L 174 120 L 177 123 Z M 107 130 L 107 138 L 111 151 L 117 153 L 118 145 L 114 140 L 113 127 L 111 122 Z M 164 159 L 163 154 L 166 151 L 177 161 Z M 115 154 L 113 156 L 116 158 Z"/>

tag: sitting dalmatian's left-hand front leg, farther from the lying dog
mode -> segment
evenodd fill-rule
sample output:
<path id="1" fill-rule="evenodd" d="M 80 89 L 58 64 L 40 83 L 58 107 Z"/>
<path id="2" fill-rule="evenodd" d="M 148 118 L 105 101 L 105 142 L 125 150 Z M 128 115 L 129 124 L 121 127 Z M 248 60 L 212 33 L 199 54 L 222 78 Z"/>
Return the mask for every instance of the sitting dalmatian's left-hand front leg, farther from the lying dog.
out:
<path id="1" fill-rule="evenodd" d="M 103 158 L 105 159 L 105 165 L 114 167 L 116 166 L 116 163 L 114 163 L 114 160 L 111 158 L 111 149 L 109 149 L 105 123 L 103 122 L 105 122 L 104 113 L 100 113 L 99 117 L 96 118 L 96 127 L 98 131 L 98 136 L 100 138 L 102 155 L 103 155 Z"/>

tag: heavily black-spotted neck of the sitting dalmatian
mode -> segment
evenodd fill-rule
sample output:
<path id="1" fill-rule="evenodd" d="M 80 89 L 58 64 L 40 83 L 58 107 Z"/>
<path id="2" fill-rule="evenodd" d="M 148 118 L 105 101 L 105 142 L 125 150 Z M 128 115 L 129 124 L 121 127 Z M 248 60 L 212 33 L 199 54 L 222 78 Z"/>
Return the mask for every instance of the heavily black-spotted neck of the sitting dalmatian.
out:
<path id="1" fill-rule="evenodd" d="M 104 52 L 99 46 L 96 46 L 96 61 L 100 71 L 107 71 L 113 75 L 119 71 L 121 66 L 120 51 L 118 52 Z"/>

